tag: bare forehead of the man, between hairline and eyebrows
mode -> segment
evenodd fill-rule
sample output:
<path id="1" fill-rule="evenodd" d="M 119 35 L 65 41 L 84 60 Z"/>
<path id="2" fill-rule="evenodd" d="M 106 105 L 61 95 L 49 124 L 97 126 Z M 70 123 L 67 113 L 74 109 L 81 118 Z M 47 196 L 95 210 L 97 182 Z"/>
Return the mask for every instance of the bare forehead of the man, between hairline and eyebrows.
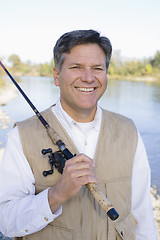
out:
<path id="1" fill-rule="evenodd" d="M 64 63 L 72 61 L 106 62 L 106 55 L 98 44 L 80 44 L 64 55 Z"/>

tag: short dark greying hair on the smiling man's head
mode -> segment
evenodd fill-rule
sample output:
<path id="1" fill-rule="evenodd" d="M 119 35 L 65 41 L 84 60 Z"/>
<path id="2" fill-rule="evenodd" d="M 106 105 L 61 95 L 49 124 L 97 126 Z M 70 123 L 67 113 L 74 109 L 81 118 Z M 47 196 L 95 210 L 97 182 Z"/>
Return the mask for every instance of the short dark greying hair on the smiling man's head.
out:
<path id="1" fill-rule="evenodd" d="M 107 37 L 100 36 L 95 30 L 75 30 L 63 34 L 56 42 L 53 49 L 55 67 L 61 70 L 64 62 L 64 54 L 70 53 L 71 49 L 80 44 L 97 44 L 106 55 L 106 69 L 108 70 L 112 54 L 112 45 Z"/>

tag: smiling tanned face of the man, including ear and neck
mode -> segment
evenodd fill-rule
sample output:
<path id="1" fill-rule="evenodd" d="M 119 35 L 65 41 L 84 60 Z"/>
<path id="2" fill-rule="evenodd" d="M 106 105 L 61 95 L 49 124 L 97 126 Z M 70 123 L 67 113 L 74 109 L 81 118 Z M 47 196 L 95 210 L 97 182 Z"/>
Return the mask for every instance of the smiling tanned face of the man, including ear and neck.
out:
<path id="1" fill-rule="evenodd" d="M 54 68 L 62 107 L 74 120 L 82 121 L 81 117 L 93 120 L 97 101 L 107 87 L 106 72 L 106 56 L 97 44 L 73 47 L 65 54 L 60 72 Z"/>

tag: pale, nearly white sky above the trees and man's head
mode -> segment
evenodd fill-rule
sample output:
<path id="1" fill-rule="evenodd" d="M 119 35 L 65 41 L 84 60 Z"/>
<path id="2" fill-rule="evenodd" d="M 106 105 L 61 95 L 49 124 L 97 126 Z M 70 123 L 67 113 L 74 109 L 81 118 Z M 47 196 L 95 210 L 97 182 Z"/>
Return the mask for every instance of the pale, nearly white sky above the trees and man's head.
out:
<path id="1" fill-rule="evenodd" d="M 160 50 L 160 0 L 0 0 L 0 57 L 49 62 L 65 32 L 94 29 L 122 57 L 143 59 Z"/>

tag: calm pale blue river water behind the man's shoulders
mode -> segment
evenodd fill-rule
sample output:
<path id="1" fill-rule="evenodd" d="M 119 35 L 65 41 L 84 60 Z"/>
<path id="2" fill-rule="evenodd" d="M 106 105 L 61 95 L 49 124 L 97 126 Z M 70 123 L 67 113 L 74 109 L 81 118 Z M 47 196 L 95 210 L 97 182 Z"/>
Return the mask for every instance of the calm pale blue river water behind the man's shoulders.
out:
<path id="1" fill-rule="evenodd" d="M 22 77 L 20 80 L 21 87 L 39 111 L 56 102 L 59 90 L 54 86 L 52 78 Z M 99 104 L 105 109 L 134 120 L 146 146 L 152 171 L 152 184 L 158 186 L 160 190 L 160 85 L 111 80 Z M 10 128 L 15 121 L 34 115 L 20 94 L 2 108 L 12 120 Z M 5 144 L 8 130 L 2 131 L 0 128 L 2 146 Z"/>

